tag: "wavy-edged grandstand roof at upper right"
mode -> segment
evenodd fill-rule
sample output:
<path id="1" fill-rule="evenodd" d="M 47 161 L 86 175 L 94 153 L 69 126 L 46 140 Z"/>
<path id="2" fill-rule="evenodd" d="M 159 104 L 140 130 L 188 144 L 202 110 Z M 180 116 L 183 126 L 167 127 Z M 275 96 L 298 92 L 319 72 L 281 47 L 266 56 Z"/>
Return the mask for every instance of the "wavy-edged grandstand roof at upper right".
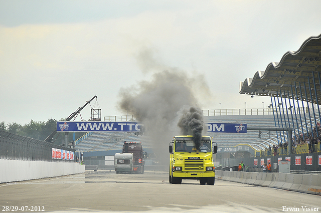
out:
<path id="1" fill-rule="evenodd" d="M 295 94 L 295 84 L 298 92 L 298 99 L 301 100 L 300 87 L 303 101 L 311 102 L 310 91 L 312 93 L 312 102 L 316 103 L 315 91 L 317 93 L 318 103 L 321 104 L 321 34 L 311 36 L 301 45 L 299 50 L 286 52 L 281 61 L 271 62 L 265 71 L 257 71 L 253 78 L 247 78 L 240 82 L 239 92 L 248 95 L 276 96 L 277 93 L 283 98 L 292 98 L 291 88 Z M 314 78 L 313 78 L 314 75 Z M 314 82 L 315 81 L 315 91 Z M 294 83 L 295 82 L 295 83 Z M 296 96 L 294 95 L 294 98 Z"/>

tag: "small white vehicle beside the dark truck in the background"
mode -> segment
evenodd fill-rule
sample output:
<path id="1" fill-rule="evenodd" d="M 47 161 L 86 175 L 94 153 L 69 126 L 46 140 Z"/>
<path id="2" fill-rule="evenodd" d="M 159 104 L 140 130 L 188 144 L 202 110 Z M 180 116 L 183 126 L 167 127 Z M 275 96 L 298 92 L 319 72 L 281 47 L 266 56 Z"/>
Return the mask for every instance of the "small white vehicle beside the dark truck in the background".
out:
<path id="1" fill-rule="evenodd" d="M 116 173 L 132 173 L 134 169 L 133 153 L 115 153 Z"/>

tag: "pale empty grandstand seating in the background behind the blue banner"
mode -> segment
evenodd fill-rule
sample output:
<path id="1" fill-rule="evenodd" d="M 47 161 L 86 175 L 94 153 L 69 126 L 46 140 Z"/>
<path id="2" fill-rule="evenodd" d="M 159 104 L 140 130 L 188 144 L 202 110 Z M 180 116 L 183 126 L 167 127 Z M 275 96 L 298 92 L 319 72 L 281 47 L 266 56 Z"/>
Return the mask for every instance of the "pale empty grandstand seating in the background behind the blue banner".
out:
<path id="1" fill-rule="evenodd" d="M 204 110 L 203 112 L 206 112 Z M 239 110 L 236 110 L 239 111 Z M 275 127 L 273 115 L 218 115 L 207 116 L 208 122 L 213 123 L 246 123 L 251 127 Z M 107 120 L 110 120 L 108 118 Z M 179 133 L 178 133 L 179 134 Z M 205 135 L 205 134 L 204 134 Z M 238 144 L 254 143 L 259 139 L 259 131 L 248 131 L 248 133 L 207 133 L 213 137 L 213 142 L 219 146 L 236 146 Z M 268 138 L 269 137 L 269 138 Z M 151 149 L 152 144 L 148 133 L 137 134 L 134 132 L 88 132 L 75 141 L 75 148 L 81 152 L 110 151 L 122 149 L 123 141 L 141 141 L 144 149 Z M 270 142 L 266 142 L 270 141 Z M 276 133 L 263 131 L 261 143 L 264 148 L 269 145 L 277 145 Z M 254 144 L 253 144 L 254 145 Z M 261 146 L 255 146 L 259 149 Z"/>

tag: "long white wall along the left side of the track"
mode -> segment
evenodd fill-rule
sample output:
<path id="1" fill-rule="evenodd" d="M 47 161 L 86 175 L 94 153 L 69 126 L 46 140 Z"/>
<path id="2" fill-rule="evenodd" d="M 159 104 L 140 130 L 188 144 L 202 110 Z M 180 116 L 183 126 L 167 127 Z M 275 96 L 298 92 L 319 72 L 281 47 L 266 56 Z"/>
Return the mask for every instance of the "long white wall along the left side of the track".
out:
<path id="1" fill-rule="evenodd" d="M 0 183 L 84 173 L 85 166 L 74 162 L 47 162 L 0 159 Z"/>

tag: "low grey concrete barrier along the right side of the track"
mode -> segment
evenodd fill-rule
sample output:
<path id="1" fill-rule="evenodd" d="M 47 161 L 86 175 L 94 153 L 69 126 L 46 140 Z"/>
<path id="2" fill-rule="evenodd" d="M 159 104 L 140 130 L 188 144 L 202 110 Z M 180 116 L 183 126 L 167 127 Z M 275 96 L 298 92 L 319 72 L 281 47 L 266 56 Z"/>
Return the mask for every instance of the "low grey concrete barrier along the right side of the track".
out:
<path id="1" fill-rule="evenodd" d="M 321 175 L 318 174 L 215 171 L 215 178 L 321 195 Z"/>

